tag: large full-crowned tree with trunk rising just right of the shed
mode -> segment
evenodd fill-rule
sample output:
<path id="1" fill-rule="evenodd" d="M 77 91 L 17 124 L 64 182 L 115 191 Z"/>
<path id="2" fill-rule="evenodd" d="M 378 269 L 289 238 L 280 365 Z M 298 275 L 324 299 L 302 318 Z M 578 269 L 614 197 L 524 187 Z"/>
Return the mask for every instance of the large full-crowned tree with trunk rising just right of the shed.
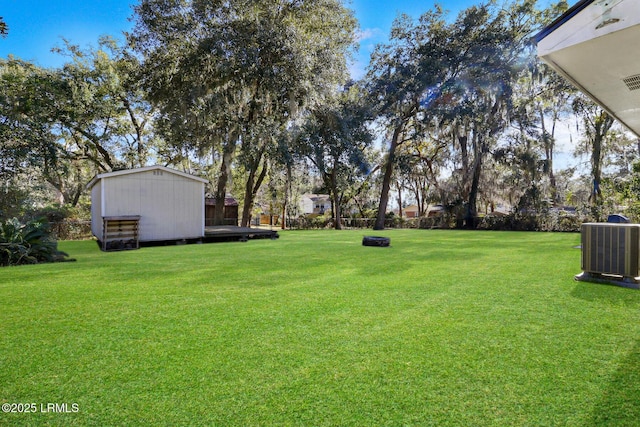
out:
<path id="1" fill-rule="evenodd" d="M 159 129 L 170 144 L 221 159 L 219 223 L 237 145 L 270 139 L 260 135 L 346 78 L 355 18 L 337 0 L 144 0 L 136 13 L 129 40 Z"/>

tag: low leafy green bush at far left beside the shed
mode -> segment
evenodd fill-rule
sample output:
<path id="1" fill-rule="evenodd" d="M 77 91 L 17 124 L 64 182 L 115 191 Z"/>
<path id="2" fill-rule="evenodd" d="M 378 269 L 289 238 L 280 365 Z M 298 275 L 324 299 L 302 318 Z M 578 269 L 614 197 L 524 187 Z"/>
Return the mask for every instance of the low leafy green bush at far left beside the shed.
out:
<path id="1" fill-rule="evenodd" d="M 0 266 L 64 261 L 45 219 L 22 224 L 17 218 L 0 223 Z"/>

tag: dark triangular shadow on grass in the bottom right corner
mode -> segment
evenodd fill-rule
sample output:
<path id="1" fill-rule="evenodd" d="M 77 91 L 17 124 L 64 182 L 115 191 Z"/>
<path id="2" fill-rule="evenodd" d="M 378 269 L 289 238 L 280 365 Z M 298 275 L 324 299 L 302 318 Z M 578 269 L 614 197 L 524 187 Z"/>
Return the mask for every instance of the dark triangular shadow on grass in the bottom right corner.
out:
<path id="1" fill-rule="evenodd" d="M 593 408 L 590 425 L 632 426 L 640 420 L 640 341 L 624 359 L 602 399 Z"/>

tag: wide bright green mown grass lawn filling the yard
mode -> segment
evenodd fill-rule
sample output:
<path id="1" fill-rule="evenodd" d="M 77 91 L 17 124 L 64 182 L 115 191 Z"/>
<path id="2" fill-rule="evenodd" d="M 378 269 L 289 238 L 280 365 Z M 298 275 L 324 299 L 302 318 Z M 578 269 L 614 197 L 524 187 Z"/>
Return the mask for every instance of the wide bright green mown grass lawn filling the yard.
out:
<path id="1" fill-rule="evenodd" d="M 640 424 L 640 292 L 578 234 L 365 234 L 0 269 L 0 425 Z"/>

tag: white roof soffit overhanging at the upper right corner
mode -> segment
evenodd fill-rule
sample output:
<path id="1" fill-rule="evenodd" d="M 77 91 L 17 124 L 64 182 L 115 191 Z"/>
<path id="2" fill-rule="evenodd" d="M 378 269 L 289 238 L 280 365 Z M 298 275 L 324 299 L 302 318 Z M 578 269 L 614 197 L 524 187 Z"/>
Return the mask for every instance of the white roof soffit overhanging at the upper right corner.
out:
<path id="1" fill-rule="evenodd" d="M 640 1 L 585 3 L 541 33 L 538 55 L 640 136 Z"/>

